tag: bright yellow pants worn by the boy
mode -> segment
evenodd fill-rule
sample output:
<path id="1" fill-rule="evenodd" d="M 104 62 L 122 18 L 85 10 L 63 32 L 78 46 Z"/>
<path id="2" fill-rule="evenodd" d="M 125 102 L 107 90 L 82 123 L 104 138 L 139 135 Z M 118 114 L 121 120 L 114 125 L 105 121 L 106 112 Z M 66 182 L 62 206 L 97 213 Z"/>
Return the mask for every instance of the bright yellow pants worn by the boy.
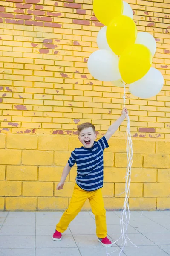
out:
<path id="1" fill-rule="evenodd" d="M 101 189 L 95 191 L 85 191 L 75 184 L 74 192 L 69 204 L 69 208 L 63 213 L 59 223 L 56 226 L 58 232 L 63 233 L 68 228 L 70 222 L 81 211 L 87 198 L 92 207 L 92 212 L 95 215 L 96 234 L 99 238 L 107 236 L 106 228 L 106 210 L 104 209 L 104 201 Z"/>

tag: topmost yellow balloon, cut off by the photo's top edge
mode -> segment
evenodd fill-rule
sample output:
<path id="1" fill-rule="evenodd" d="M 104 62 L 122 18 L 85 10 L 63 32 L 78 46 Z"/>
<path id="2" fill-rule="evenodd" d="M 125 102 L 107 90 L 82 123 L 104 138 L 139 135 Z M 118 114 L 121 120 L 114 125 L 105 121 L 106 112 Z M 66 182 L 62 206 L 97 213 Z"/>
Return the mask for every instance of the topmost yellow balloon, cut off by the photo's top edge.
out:
<path id="1" fill-rule="evenodd" d="M 104 25 L 123 13 L 123 0 L 94 0 L 93 10 L 97 19 Z"/>

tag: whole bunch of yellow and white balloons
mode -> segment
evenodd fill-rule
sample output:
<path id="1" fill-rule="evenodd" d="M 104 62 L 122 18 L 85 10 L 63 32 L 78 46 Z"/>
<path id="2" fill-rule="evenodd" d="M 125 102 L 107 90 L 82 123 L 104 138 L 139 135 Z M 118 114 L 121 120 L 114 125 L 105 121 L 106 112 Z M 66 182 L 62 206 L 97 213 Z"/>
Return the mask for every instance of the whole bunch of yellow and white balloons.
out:
<path id="1" fill-rule="evenodd" d="M 123 0 L 94 0 L 95 16 L 105 26 L 98 32 L 98 51 L 88 60 L 91 75 L 100 81 L 111 81 L 141 98 L 158 94 L 164 84 L 159 70 L 152 68 L 156 53 L 155 38 L 137 32 L 133 10 Z"/>

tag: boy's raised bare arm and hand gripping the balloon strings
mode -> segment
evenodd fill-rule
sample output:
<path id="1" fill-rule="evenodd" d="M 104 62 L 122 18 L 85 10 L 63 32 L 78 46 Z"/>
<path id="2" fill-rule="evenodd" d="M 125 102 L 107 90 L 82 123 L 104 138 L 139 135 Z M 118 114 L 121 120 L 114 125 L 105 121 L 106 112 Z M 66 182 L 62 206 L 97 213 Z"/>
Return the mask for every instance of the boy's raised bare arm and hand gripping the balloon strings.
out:
<path id="1" fill-rule="evenodd" d="M 127 108 L 123 108 L 123 110 L 121 112 L 121 116 L 118 118 L 118 120 L 116 120 L 112 125 L 109 126 L 107 133 L 105 134 L 105 138 L 107 141 L 110 139 L 110 137 L 112 137 L 112 135 L 115 133 L 115 131 L 117 131 L 117 129 L 119 128 L 121 123 L 126 118 L 127 113 L 128 113 Z"/>

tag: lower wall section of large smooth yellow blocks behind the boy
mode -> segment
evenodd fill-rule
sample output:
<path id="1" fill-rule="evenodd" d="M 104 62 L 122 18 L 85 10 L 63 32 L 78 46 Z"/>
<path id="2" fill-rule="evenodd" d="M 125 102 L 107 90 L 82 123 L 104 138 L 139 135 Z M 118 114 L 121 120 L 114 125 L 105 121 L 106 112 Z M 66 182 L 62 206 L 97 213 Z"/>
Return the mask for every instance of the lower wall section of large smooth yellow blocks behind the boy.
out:
<path id="1" fill-rule="evenodd" d="M 134 138 L 130 209 L 169 209 L 170 142 Z M 121 209 L 126 174 L 125 139 L 113 137 L 104 152 L 104 202 Z M 63 210 L 75 184 L 76 166 L 56 191 L 70 153 L 79 147 L 70 135 L 0 134 L 0 209 Z M 121 194 L 121 195 L 118 195 Z M 83 209 L 90 209 L 87 202 Z"/>

